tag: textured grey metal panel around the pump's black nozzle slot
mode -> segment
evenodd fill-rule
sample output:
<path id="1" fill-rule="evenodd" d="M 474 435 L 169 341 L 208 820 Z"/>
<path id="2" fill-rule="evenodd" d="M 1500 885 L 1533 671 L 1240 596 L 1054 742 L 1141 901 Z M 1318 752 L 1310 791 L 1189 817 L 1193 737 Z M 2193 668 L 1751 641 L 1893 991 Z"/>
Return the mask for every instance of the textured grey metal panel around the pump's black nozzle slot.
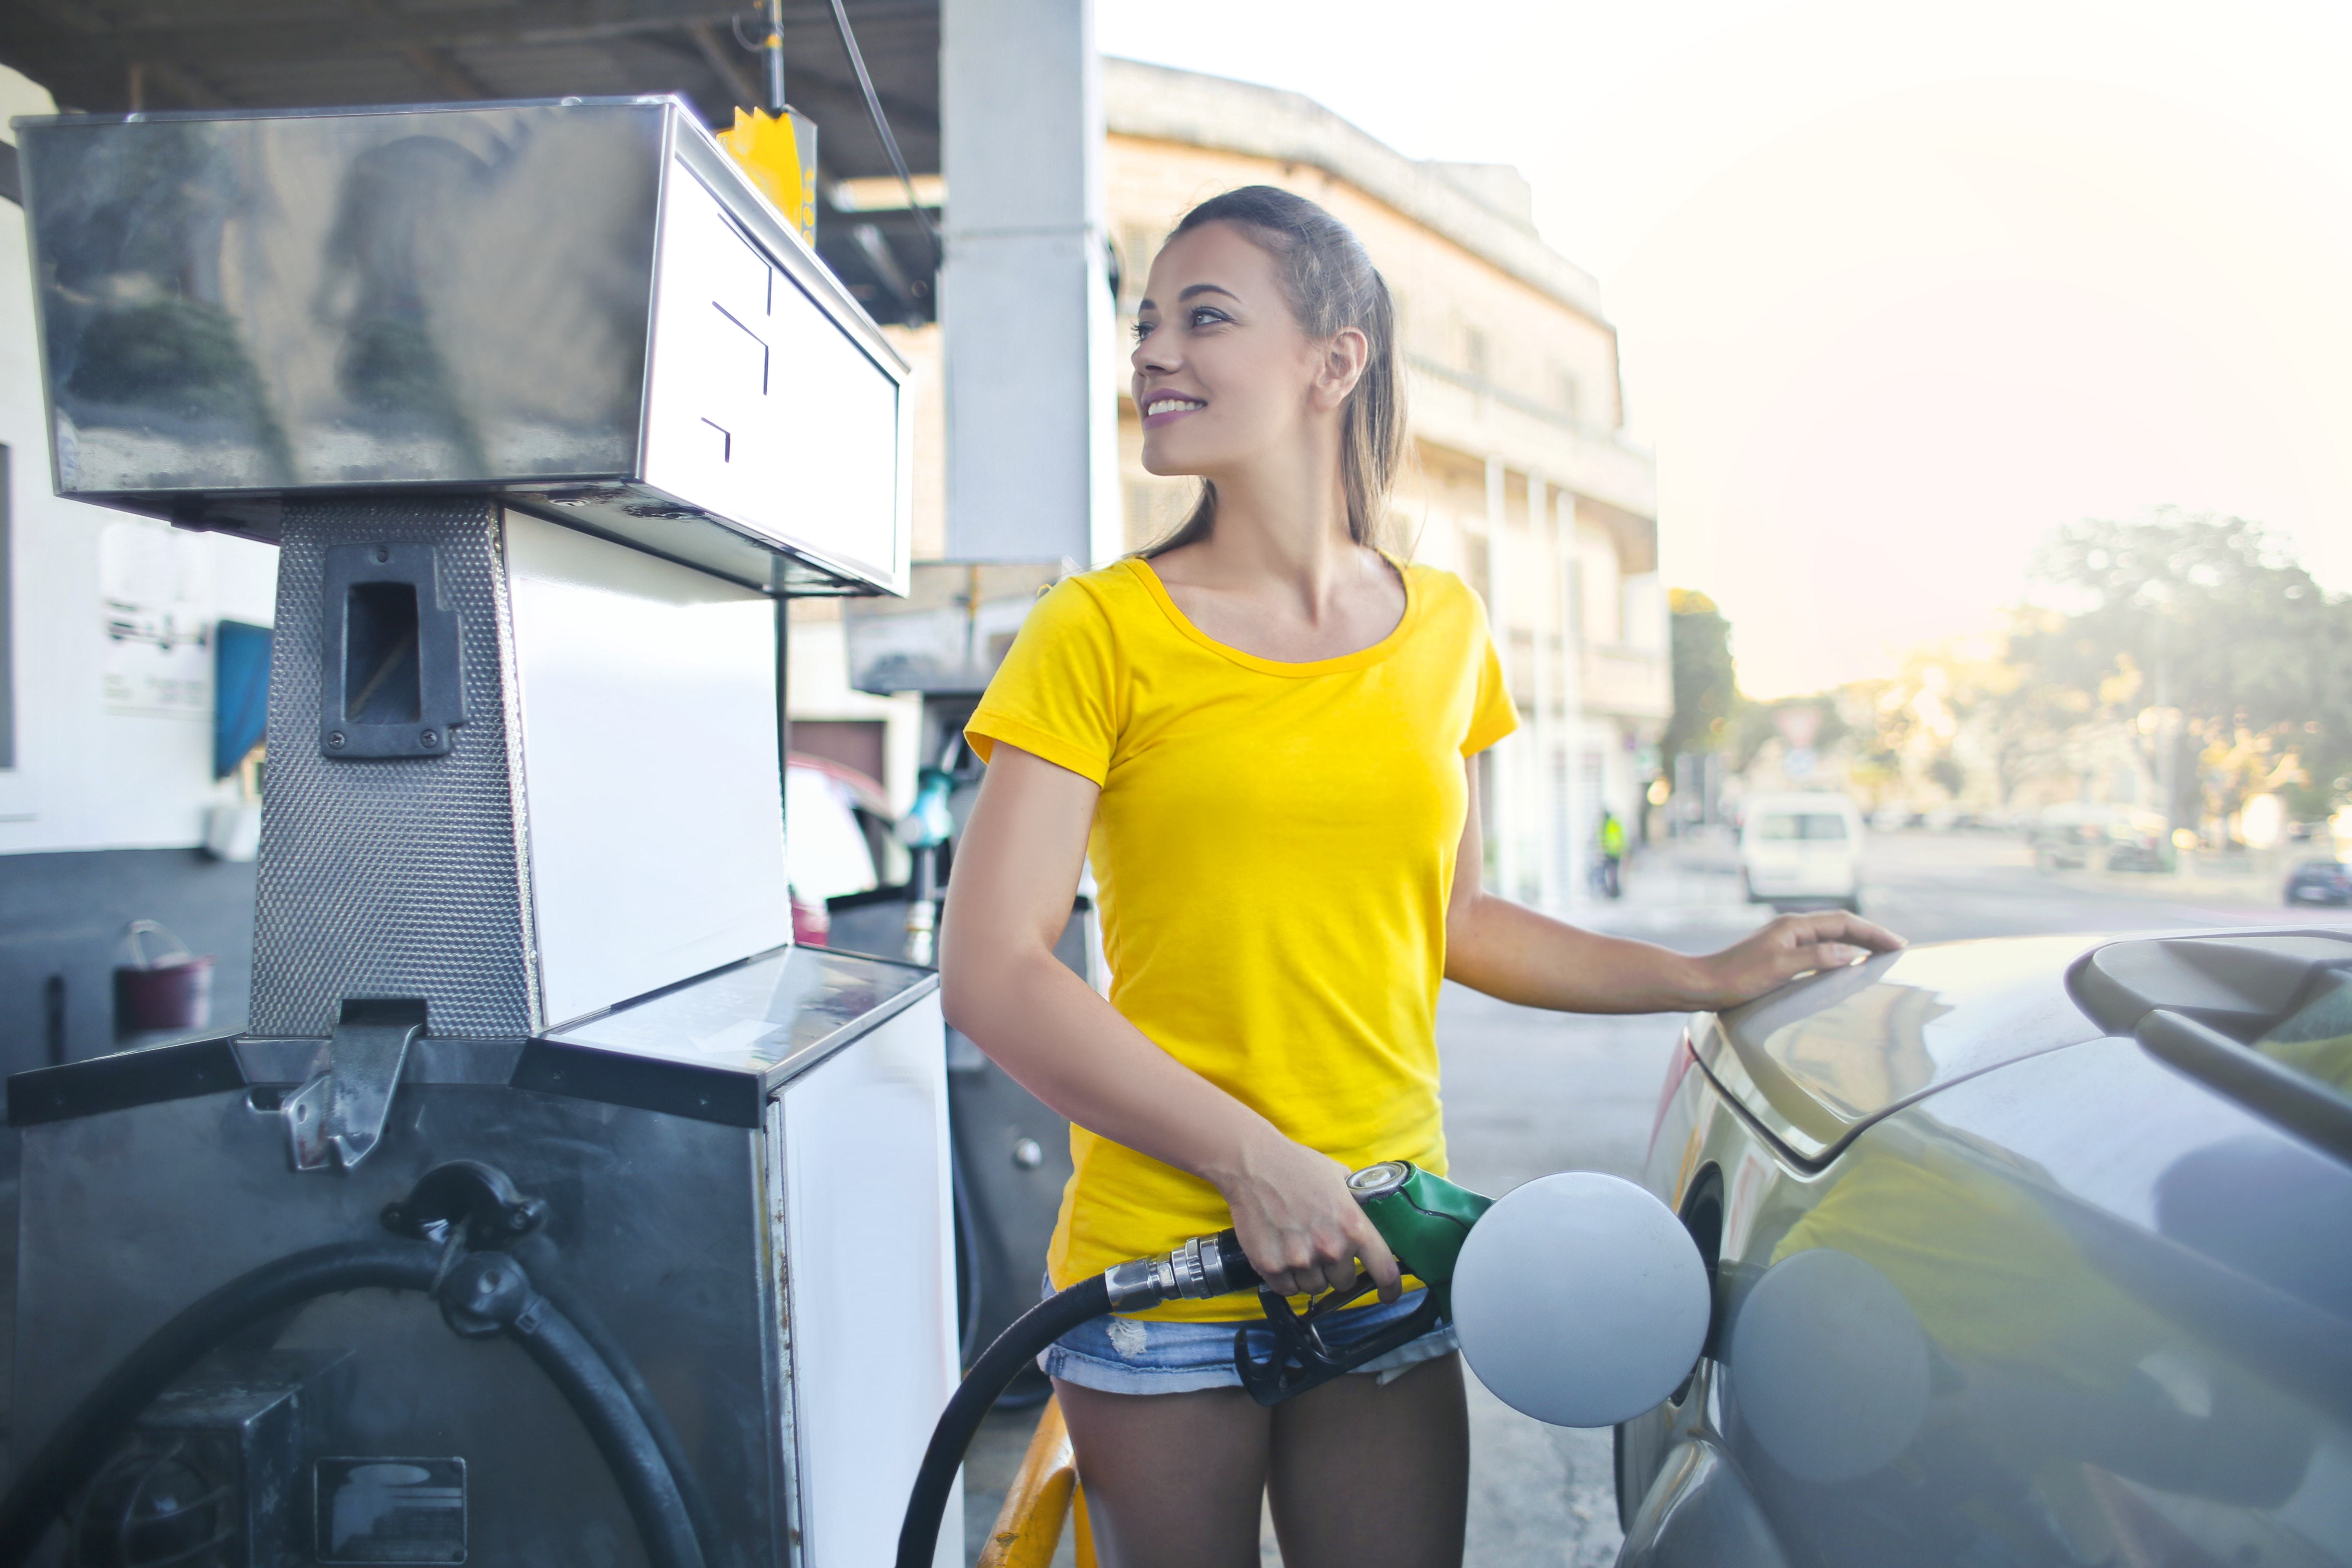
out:
<path id="1" fill-rule="evenodd" d="M 327 545 L 423 543 L 459 614 L 466 722 L 447 757 L 320 750 Z M 325 1037 L 343 997 L 423 997 L 442 1037 L 539 1027 L 513 630 L 499 505 L 287 505 L 254 907 L 254 1034 Z"/>

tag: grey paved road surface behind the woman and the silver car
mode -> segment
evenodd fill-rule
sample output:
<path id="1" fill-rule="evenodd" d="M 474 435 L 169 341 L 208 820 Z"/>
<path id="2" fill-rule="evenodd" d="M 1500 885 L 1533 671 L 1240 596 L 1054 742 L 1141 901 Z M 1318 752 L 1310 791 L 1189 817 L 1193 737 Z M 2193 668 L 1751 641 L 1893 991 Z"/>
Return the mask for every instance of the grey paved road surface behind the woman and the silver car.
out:
<path id="1" fill-rule="evenodd" d="M 1915 943 L 2037 931 L 2147 931 L 2312 922 L 2249 877 L 2093 877 L 2032 870 L 2009 835 L 1872 835 L 1865 912 Z M 2343 912 L 2336 912 L 2343 919 Z M 1769 910 L 1738 903 L 1729 846 L 1663 846 L 1625 877 L 1625 900 L 1571 914 L 1595 929 L 1712 952 Z M 1479 1192 L 1550 1171 L 1637 1175 L 1679 1016 L 1583 1018 L 1517 1009 L 1446 985 L 1437 1009 L 1454 1178 Z M 967 1472 L 976 1559 L 1033 1418 L 993 1418 Z M 1470 1380 L 1472 1568 L 1599 1568 L 1621 1542 L 1609 1432 L 1545 1427 Z M 1272 1530 L 1263 1561 L 1279 1563 Z M 1070 1547 L 1063 1542 L 1063 1556 Z"/>

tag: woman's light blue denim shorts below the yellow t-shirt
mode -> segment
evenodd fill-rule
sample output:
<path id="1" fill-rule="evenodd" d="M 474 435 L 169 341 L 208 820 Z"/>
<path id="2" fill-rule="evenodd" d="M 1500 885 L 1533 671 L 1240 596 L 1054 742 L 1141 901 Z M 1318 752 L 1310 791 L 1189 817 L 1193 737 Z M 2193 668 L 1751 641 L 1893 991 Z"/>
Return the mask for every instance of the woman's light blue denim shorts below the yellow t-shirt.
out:
<path id="1" fill-rule="evenodd" d="M 1054 1286 L 1047 1284 L 1047 1295 Z M 1421 1307 L 1428 1291 L 1406 1291 L 1390 1305 L 1378 1300 L 1369 1307 L 1352 1307 L 1327 1321 L 1324 1342 L 1334 1349 L 1362 1345 L 1378 1331 Z M 1251 1328 L 1251 1354 L 1272 1354 L 1275 1331 L 1263 1316 L 1235 1319 L 1228 1324 L 1155 1324 L 1136 1316 L 1098 1316 L 1061 1335 L 1037 1356 L 1047 1378 L 1061 1378 L 1084 1389 L 1105 1394 L 1190 1394 L 1192 1389 L 1237 1389 L 1242 1375 L 1232 1371 L 1232 1331 Z M 1385 1356 L 1374 1356 L 1352 1371 L 1371 1373 L 1381 1382 L 1402 1378 L 1423 1361 L 1458 1349 L 1454 1324 L 1439 1324 L 1418 1340 L 1406 1340 Z"/>

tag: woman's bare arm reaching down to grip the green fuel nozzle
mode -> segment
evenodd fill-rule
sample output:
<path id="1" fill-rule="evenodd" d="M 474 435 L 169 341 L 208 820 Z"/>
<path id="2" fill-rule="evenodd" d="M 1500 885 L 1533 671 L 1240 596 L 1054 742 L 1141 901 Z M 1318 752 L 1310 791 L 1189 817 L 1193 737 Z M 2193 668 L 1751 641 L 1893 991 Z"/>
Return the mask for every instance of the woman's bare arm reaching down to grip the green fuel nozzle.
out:
<path id="1" fill-rule="evenodd" d="M 1362 1258 L 1392 1300 L 1397 1262 L 1348 1197 L 1348 1171 L 1162 1051 L 1054 957 L 1098 795 L 997 743 L 948 884 L 948 1023 L 1070 1121 L 1216 1185 L 1277 1291 L 1345 1286 Z"/>

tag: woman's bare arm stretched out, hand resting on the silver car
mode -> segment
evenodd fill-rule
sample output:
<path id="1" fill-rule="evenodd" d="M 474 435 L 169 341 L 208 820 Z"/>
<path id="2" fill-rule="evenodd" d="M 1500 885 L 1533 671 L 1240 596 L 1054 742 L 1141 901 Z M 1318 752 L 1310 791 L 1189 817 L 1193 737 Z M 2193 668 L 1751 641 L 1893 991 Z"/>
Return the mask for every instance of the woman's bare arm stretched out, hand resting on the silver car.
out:
<path id="1" fill-rule="evenodd" d="M 1486 835 L 1477 766 L 1468 771 L 1470 813 L 1446 903 L 1446 978 L 1489 997 L 1562 1013 L 1724 1009 L 1809 969 L 1837 969 L 1903 945 L 1900 936 L 1858 914 L 1780 914 L 1755 936 L 1700 959 L 1538 914 L 1482 886 Z"/>

